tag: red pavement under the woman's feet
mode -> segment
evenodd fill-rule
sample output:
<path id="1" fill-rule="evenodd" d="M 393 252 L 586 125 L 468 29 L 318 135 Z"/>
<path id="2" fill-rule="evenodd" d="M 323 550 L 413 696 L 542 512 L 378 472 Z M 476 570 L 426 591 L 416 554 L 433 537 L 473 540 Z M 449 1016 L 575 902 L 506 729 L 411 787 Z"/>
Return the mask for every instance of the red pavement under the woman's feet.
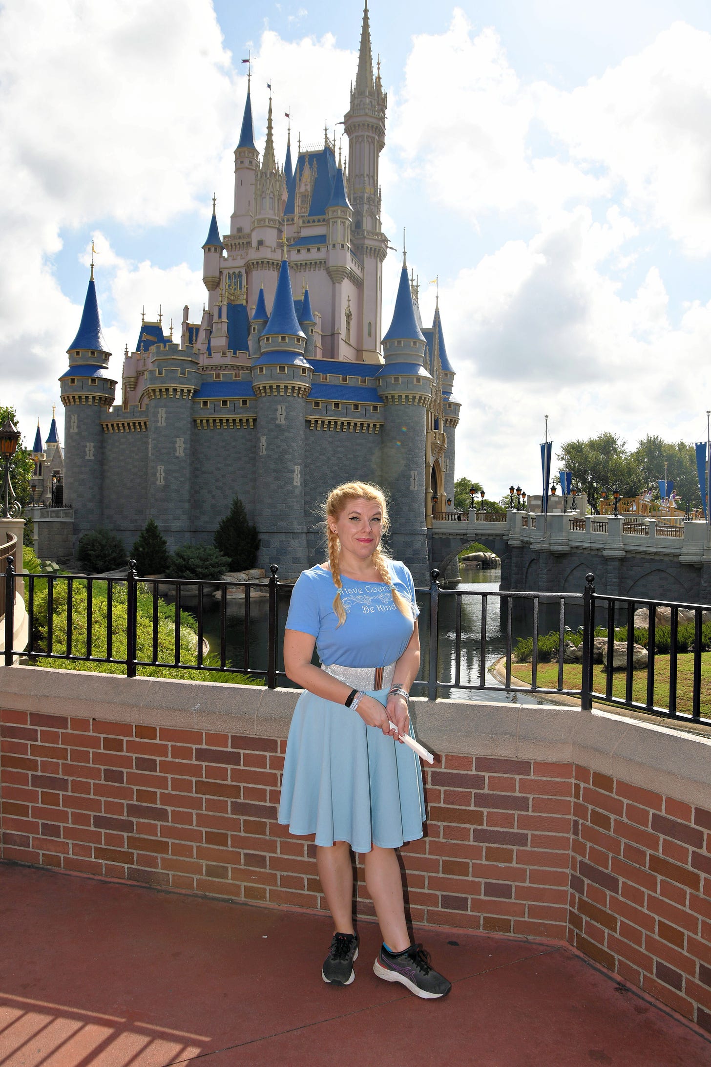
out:
<path id="1" fill-rule="evenodd" d="M 711 1065 L 700 1032 L 565 946 L 426 930 L 454 985 L 421 1001 L 359 934 L 334 988 L 326 918 L 0 864 L 0 1065 Z"/>

